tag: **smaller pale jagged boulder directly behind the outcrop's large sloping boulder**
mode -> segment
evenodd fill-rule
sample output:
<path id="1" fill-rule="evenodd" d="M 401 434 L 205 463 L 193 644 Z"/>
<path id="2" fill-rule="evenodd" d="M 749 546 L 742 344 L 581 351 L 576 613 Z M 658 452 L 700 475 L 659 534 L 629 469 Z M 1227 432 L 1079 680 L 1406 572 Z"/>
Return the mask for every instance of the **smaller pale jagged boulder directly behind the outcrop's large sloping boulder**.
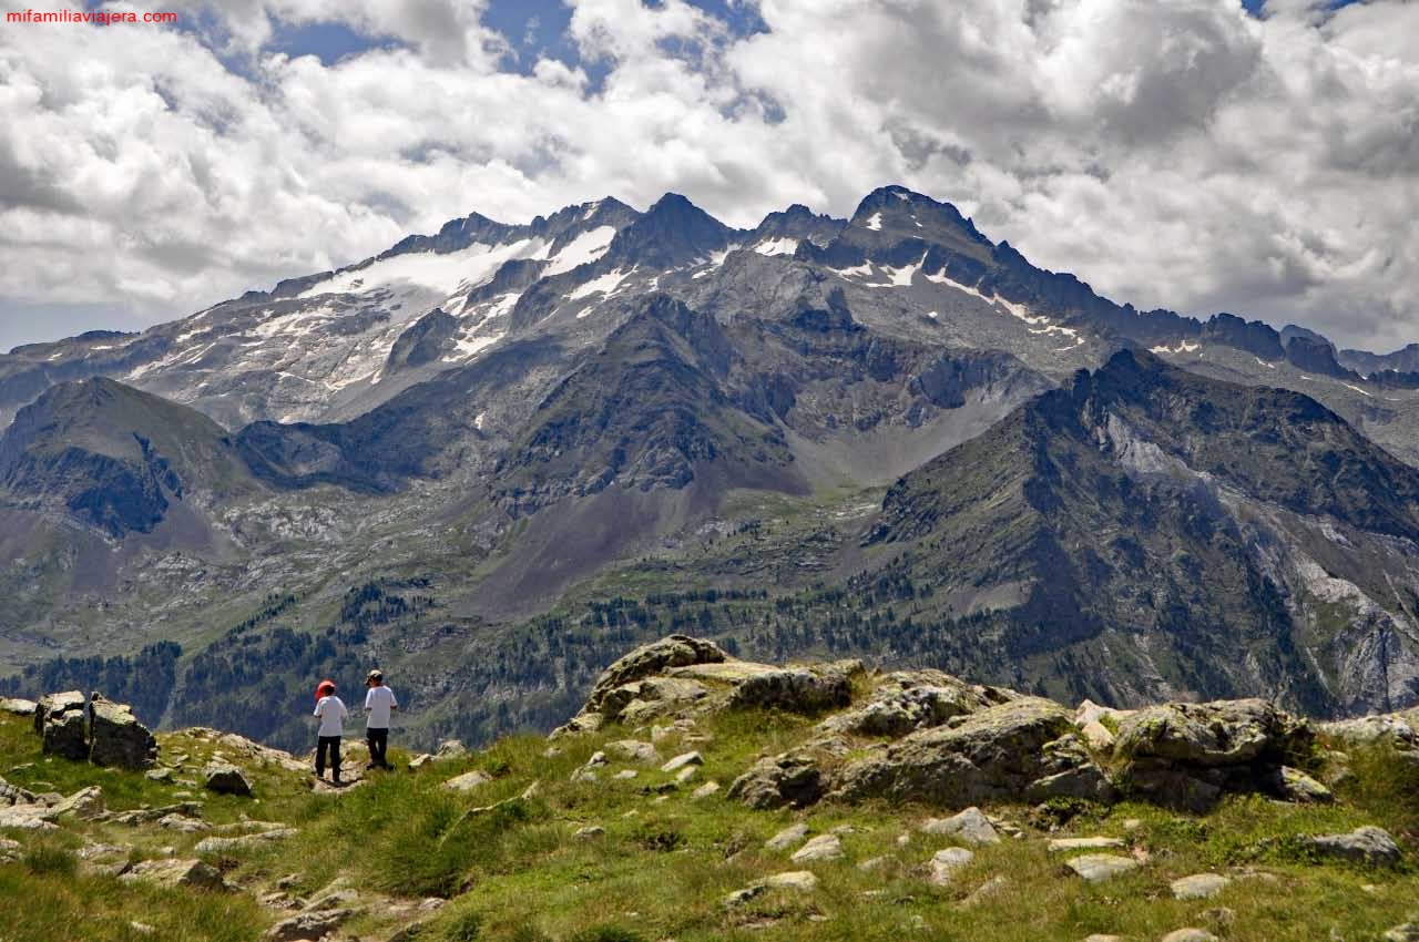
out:
<path id="1" fill-rule="evenodd" d="M 829 716 L 820 731 L 898 738 L 1017 697 L 1015 691 L 966 684 L 942 671 L 894 671 L 877 684 L 866 704 Z"/>

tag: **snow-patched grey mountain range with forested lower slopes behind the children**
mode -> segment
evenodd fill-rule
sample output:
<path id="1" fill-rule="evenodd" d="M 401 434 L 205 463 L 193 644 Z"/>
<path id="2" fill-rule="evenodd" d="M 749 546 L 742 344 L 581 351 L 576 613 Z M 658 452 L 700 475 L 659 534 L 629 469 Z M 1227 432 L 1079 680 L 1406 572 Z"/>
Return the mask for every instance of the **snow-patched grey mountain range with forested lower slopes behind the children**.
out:
<path id="1" fill-rule="evenodd" d="M 473 214 L 0 356 L 3 687 L 297 745 L 318 674 L 380 663 L 409 735 L 484 739 L 692 627 L 1395 709 L 1416 350 L 1120 305 L 902 187 L 752 230 L 675 194 Z"/>

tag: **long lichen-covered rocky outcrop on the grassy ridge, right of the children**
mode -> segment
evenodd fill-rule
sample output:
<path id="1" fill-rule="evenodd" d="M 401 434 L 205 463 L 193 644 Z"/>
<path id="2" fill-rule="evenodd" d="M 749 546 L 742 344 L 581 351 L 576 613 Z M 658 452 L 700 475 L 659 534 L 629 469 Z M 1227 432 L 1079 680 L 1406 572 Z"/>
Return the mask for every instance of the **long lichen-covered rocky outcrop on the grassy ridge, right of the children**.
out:
<path id="1" fill-rule="evenodd" d="M 955 810 L 993 802 L 1132 797 L 1206 810 L 1229 792 L 1298 803 L 1332 797 L 1304 770 L 1314 762 L 1308 722 L 1266 701 L 1134 711 L 1086 701 L 1069 709 L 937 670 L 868 675 L 856 661 L 786 667 L 741 661 L 685 636 L 647 644 L 613 664 L 578 719 L 561 732 L 651 719 L 690 725 L 694 716 L 729 709 L 827 714 L 806 742 L 761 756 L 735 777 L 727 797 L 755 809 L 806 807 L 824 797 Z M 664 729 L 653 726 L 651 739 Z M 1335 732 L 1403 743 L 1410 742 L 1406 732 L 1412 735 L 1398 719 Z M 607 748 L 633 760 L 656 755 L 640 741 Z M 597 772 L 589 763 L 576 775 Z M 982 833 L 990 831 L 989 821 L 975 820 L 979 813 L 968 817 Z"/>

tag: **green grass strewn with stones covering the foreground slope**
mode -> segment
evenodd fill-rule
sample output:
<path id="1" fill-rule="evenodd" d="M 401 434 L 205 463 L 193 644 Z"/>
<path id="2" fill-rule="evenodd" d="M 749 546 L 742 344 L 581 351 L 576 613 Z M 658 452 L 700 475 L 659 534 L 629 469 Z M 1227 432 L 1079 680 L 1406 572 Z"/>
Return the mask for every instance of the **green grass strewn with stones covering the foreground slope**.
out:
<path id="1" fill-rule="evenodd" d="M 257 799 L 207 797 L 203 816 L 223 823 L 247 814 L 289 823 L 299 833 L 209 858 L 243 892 L 155 890 L 95 875 L 77 855 L 87 843 L 119 844 L 132 858 L 158 857 L 163 848 L 183 857 L 201 836 L 67 821 L 57 833 L 9 834 L 24 850 L 14 863 L 0 864 L 0 899 L 26 905 L 7 918 L 3 938 L 254 942 L 281 915 L 254 897 L 287 875 L 295 875 L 289 892 L 304 899 L 336 880 L 387 905 L 446 898 L 441 909 L 419 916 L 420 942 L 1077 942 L 1093 932 L 1142 942 L 1183 925 L 1229 942 L 1314 942 L 1332 932 L 1347 942 L 1372 942 L 1419 909 L 1415 867 L 1321 861 L 1298 841 L 1303 834 L 1379 824 L 1413 853 L 1419 772 L 1385 750 L 1351 752 L 1351 776 L 1331 806 L 1233 797 L 1206 816 L 1141 803 L 992 807 L 1027 837 L 976 848 L 969 867 L 949 885 L 935 887 L 925 878 L 925 863 L 952 841 L 915 826 L 941 814 L 937 809 L 826 802 L 806 811 L 753 811 L 728 802 L 722 790 L 691 797 L 711 779 L 728 787 L 755 758 L 802 743 L 813 726 L 813 719 L 788 714 L 729 712 L 688 735 L 671 732 L 657 743 L 663 758 L 695 749 L 705 763 L 691 783 L 670 790 L 673 776 L 660 772 L 658 762 L 613 759 L 599 780 L 572 780 L 607 742 L 648 735 L 619 726 L 552 743 L 508 738 L 419 773 L 380 775 L 339 796 L 311 793 L 301 776 L 277 768 L 253 769 Z M 211 750 L 209 741 L 183 733 L 162 741 L 165 756 L 186 752 L 189 766 Z M 10 765 L 30 765 L 6 777 L 33 780 L 43 773 L 60 792 L 99 783 L 109 807 L 173 803 L 183 790 L 136 773 L 45 762 L 20 721 L 0 718 L 0 750 Z M 492 780 L 467 794 L 441 787 L 473 769 Z M 613 779 L 620 769 L 636 769 L 637 776 Z M 534 783 L 535 793 L 521 797 Z M 844 860 L 793 864 L 789 853 L 765 848 L 769 837 L 800 820 L 815 834 L 849 829 L 841 836 Z M 604 833 L 575 837 L 592 824 Z M 1145 865 L 1090 885 L 1046 850 L 1051 836 L 1095 834 L 1122 838 L 1130 851 L 1145 855 Z M 881 858 L 880 865 L 860 870 L 870 858 Z M 819 877 L 813 892 L 778 890 L 741 907 L 724 904 L 765 875 L 805 868 Z M 1203 871 L 1229 874 L 1233 882 L 1212 899 L 1172 898 L 1172 880 Z M 995 877 L 1005 885 L 968 905 Z M 342 932 L 379 941 L 409 919 L 376 907 Z M 133 921 L 152 925 L 155 935 L 140 936 Z"/>

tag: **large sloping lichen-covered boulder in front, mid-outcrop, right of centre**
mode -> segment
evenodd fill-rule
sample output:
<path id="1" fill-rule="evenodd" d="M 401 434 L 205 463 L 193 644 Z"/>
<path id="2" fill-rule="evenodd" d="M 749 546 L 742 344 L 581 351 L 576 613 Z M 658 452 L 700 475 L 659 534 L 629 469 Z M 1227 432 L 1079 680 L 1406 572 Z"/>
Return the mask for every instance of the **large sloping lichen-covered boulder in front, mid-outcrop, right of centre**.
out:
<path id="1" fill-rule="evenodd" d="M 966 807 L 1060 796 L 1107 800 L 1112 787 L 1063 706 L 1020 697 L 846 763 L 833 773 L 832 793 Z"/>

